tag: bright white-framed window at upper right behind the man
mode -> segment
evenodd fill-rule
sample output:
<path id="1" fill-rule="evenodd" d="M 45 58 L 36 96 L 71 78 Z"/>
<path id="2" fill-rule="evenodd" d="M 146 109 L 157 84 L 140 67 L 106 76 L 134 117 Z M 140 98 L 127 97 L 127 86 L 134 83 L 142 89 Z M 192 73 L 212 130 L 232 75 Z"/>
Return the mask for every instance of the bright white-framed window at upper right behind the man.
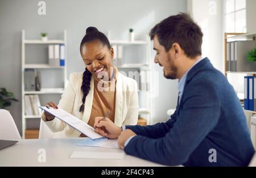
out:
<path id="1" fill-rule="evenodd" d="M 246 0 L 224 1 L 225 32 L 246 32 Z"/>

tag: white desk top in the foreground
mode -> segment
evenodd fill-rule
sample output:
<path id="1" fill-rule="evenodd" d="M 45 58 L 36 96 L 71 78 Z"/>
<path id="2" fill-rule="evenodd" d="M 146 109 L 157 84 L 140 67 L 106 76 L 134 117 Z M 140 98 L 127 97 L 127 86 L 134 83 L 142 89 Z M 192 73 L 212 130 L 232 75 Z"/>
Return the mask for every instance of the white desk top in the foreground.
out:
<path id="1" fill-rule="evenodd" d="M 126 154 L 123 159 L 71 159 L 73 151 L 123 152 L 121 149 L 76 146 L 81 139 L 23 139 L 0 150 L 0 166 L 162 166 Z M 45 163 L 38 161 L 40 149 L 46 150 Z"/>

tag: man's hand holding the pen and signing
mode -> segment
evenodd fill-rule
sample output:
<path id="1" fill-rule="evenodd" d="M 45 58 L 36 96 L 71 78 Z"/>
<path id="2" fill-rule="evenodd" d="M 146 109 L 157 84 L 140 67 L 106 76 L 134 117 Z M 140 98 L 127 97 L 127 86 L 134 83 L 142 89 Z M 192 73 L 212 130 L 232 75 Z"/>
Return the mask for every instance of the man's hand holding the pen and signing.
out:
<path id="1" fill-rule="evenodd" d="M 95 117 L 94 121 L 94 130 L 98 134 L 108 137 L 111 139 L 116 139 L 122 132 L 122 128 L 119 128 L 116 126 L 112 120 L 110 120 L 108 117 L 105 118 L 104 121 L 101 121 L 101 118 L 103 117 Z"/>

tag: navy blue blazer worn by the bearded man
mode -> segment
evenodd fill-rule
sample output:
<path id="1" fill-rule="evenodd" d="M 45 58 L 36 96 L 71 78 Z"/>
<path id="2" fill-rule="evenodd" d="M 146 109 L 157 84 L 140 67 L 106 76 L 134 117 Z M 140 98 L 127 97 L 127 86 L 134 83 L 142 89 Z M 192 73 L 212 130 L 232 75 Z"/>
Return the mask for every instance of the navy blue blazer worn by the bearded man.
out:
<path id="1" fill-rule="evenodd" d="M 126 129 L 137 134 L 127 154 L 168 166 L 247 166 L 254 154 L 240 100 L 208 58 L 188 72 L 167 122 Z"/>

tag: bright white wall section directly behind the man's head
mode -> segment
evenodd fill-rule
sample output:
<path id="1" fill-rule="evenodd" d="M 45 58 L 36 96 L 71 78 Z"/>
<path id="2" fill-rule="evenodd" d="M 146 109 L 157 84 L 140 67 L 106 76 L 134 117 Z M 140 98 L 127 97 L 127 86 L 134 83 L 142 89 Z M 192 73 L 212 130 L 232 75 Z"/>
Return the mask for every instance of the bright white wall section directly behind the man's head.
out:
<path id="1" fill-rule="evenodd" d="M 202 52 L 216 69 L 224 73 L 224 32 L 221 0 L 187 0 L 188 12 L 201 27 L 204 37 Z"/>

